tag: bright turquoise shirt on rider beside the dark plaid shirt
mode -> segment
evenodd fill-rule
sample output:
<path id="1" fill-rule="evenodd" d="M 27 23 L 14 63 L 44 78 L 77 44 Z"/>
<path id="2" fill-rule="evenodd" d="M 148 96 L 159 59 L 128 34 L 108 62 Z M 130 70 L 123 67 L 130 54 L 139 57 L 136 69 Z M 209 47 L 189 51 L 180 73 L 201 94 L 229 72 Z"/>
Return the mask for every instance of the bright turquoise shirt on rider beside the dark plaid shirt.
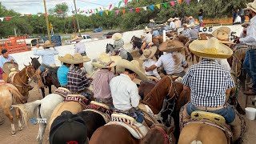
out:
<path id="1" fill-rule="evenodd" d="M 58 82 L 61 84 L 61 86 L 67 85 L 67 73 L 69 71 L 70 69 L 65 65 L 62 65 L 58 68 L 57 76 L 58 76 Z"/>

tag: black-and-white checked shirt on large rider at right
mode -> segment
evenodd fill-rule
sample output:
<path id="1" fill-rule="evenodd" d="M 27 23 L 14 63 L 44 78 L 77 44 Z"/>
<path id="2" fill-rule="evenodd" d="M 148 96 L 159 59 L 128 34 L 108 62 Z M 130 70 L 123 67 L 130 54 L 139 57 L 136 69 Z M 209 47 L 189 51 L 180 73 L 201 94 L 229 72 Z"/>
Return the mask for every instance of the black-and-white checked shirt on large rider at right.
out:
<path id="1" fill-rule="evenodd" d="M 230 72 L 210 59 L 190 66 L 182 83 L 190 87 L 192 104 L 208 107 L 223 106 L 226 90 L 234 87 Z"/>

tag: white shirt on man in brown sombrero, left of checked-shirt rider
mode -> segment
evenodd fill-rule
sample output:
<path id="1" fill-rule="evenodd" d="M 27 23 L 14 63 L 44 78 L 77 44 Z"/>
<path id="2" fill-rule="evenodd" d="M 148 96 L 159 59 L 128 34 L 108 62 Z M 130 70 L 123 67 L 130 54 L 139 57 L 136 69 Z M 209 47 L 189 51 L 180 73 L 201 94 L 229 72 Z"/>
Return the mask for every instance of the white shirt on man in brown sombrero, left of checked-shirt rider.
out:
<path id="1" fill-rule="evenodd" d="M 174 62 L 173 54 L 177 54 L 177 63 Z M 173 52 L 162 55 L 154 65 L 157 67 L 162 65 L 166 74 L 178 74 L 184 70 L 182 66 L 186 66 L 187 62 L 181 53 Z"/>

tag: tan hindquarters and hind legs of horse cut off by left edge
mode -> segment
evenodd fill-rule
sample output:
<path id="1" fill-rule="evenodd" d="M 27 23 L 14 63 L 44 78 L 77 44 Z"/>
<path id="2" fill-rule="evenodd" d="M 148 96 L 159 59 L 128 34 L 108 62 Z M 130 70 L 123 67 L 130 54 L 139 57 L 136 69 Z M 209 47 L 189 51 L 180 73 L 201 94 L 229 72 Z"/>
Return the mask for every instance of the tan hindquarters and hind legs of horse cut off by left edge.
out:
<path id="1" fill-rule="evenodd" d="M 12 104 L 25 103 L 27 99 L 28 96 L 23 96 L 14 85 L 10 83 L 0 85 L 0 109 L 4 111 L 4 114 L 6 114 L 6 117 L 10 120 L 11 134 L 15 134 L 16 130 L 14 126 L 14 116 L 10 112 L 10 106 Z M 15 113 L 18 119 L 18 130 L 22 130 L 18 108 L 15 108 Z"/>

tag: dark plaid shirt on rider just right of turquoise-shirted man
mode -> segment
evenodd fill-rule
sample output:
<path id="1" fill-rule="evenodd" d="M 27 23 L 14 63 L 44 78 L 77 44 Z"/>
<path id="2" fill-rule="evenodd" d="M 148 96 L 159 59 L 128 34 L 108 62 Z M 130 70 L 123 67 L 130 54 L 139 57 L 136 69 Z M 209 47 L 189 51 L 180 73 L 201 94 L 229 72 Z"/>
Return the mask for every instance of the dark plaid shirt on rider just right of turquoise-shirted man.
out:
<path id="1" fill-rule="evenodd" d="M 86 78 L 86 73 L 84 73 L 80 68 L 74 67 L 67 73 L 67 89 L 70 91 L 80 91 L 84 90 L 86 87 L 90 86 L 89 78 Z"/>

